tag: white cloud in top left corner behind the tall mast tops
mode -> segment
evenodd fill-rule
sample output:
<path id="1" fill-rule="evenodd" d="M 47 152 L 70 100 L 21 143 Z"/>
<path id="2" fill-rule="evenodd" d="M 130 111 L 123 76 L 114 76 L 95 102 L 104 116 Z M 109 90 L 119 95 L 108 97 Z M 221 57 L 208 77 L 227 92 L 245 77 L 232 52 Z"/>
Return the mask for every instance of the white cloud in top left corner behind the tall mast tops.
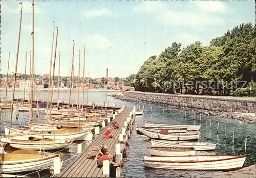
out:
<path id="1" fill-rule="evenodd" d="M 31 14 L 32 13 L 32 3 L 25 1 L 22 3 L 23 7 L 23 13 L 24 14 Z M 20 13 L 21 5 L 19 5 L 17 8 L 10 7 L 8 5 L 2 5 L 1 10 L 5 13 Z M 36 14 L 41 14 L 42 11 L 36 6 L 34 6 L 34 10 Z"/>

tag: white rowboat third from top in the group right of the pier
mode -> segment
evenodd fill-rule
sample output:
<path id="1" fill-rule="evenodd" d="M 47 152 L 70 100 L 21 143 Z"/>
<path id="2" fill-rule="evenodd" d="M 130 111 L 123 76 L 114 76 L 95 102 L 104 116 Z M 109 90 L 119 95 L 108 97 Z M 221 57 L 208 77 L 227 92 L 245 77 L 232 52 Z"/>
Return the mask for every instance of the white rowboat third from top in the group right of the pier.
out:
<path id="1" fill-rule="evenodd" d="M 183 141 L 169 141 L 169 140 L 154 140 L 151 139 L 152 146 L 161 147 L 183 147 L 190 148 L 193 147 L 195 150 L 215 150 L 217 143 L 209 142 L 183 142 Z"/>

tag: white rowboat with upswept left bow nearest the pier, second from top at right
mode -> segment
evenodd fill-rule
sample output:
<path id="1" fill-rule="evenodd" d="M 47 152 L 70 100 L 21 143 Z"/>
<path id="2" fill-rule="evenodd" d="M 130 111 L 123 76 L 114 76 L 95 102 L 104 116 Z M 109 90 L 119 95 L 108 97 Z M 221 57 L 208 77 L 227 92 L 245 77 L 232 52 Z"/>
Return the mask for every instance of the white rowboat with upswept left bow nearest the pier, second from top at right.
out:
<path id="1" fill-rule="evenodd" d="M 181 135 L 181 134 L 172 134 L 172 135 L 165 135 L 165 134 L 160 134 L 157 132 L 152 132 L 152 131 L 147 131 L 145 129 L 142 128 L 138 128 L 139 131 L 150 138 L 155 138 L 155 139 L 162 139 L 162 140 L 196 140 L 199 139 L 200 135 L 199 134 L 195 134 L 195 135 Z"/>

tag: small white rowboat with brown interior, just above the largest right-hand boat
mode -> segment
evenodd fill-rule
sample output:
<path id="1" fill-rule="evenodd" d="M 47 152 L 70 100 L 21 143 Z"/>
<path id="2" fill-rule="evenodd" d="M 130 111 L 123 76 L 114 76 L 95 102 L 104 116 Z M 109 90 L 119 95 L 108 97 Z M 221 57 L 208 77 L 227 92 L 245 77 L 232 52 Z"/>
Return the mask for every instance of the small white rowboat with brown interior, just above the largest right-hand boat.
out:
<path id="1" fill-rule="evenodd" d="M 148 154 L 151 156 L 188 156 L 196 155 L 194 148 L 177 148 L 177 147 L 148 147 Z"/>

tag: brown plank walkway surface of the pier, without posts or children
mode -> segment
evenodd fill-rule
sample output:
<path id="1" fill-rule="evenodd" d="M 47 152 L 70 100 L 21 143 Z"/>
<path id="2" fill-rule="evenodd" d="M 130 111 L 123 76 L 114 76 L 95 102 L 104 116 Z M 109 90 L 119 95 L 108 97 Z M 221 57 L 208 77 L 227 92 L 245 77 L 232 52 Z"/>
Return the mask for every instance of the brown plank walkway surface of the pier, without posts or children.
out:
<path id="1" fill-rule="evenodd" d="M 96 160 L 88 159 L 89 155 L 87 152 L 91 150 L 92 147 L 105 144 L 109 149 L 109 152 L 115 156 L 115 145 L 119 141 L 119 134 L 122 133 L 122 128 L 124 121 L 129 117 L 132 108 L 124 108 L 124 110 L 116 116 L 116 121 L 118 122 L 120 128 L 117 130 L 112 130 L 112 135 L 116 138 L 112 139 L 103 139 L 103 135 L 107 129 L 110 128 L 110 124 L 100 132 L 99 135 L 96 135 L 94 140 L 84 149 L 81 155 L 79 155 L 75 160 L 70 163 L 58 177 L 105 177 L 102 172 L 102 168 L 97 167 Z"/>

